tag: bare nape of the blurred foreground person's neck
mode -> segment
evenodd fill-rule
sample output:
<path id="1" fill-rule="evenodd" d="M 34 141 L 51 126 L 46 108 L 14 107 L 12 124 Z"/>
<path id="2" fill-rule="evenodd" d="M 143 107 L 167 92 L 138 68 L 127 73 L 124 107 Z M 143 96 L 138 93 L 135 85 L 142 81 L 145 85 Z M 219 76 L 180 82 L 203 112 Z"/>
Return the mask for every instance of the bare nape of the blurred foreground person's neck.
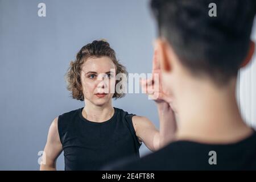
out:
<path id="1" fill-rule="evenodd" d="M 231 82 L 222 90 L 202 87 L 184 93 L 191 100 L 181 101 L 176 139 L 225 144 L 249 137 L 253 129 L 241 117 L 235 88 L 236 83 Z"/>

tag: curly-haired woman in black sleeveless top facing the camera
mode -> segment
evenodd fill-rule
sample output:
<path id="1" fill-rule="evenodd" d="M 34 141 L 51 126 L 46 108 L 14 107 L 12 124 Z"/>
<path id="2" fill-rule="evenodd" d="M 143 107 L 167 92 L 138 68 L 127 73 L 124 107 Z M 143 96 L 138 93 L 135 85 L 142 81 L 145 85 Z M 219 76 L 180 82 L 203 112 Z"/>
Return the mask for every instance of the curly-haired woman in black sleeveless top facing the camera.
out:
<path id="1" fill-rule="evenodd" d="M 139 158 L 141 142 L 156 151 L 172 140 L 173 114 L 163 119 L 158 131 L 147 118 L 112 106 L 112 98 L 125 96 L 116 89 L 111 92 L 121 80 L 116 78 L 119 74 L 127 76 L 108 42 L 94 40 L 80 49 L 66 78 L 72 98 L 84 101 L 85 106 L 53 120 L 40 170 L 56 170 L 62 151 L 65 170 L 97 170 L 116 160 Z M 166 102 L 156 103 L 160 117 L 172 113 Z"/>

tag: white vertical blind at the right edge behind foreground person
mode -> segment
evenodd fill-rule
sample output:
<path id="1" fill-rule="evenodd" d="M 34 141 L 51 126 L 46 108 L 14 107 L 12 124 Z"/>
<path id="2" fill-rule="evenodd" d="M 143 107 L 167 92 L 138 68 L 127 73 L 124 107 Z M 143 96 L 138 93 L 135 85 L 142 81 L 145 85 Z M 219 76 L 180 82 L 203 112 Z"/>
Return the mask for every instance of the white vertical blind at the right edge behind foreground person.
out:
<path id="1" fill-rule="evenodd" d="M 251 39 L 256 43 L 256 21 Z M 251 62 L 240 69 L 238 75 L 237 99 L 243 119 L 256 129 L 256 50 Z"/>

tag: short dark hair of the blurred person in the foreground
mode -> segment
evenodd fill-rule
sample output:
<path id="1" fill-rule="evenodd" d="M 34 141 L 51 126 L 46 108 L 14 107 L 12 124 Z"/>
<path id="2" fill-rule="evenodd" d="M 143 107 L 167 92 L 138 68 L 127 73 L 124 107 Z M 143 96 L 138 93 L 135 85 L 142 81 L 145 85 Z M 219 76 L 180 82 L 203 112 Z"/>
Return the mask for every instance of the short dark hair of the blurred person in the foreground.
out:
<path id="1" fill-rule="evenodd" d="M 249 50 L 255 0 L 151 0 L 159 36 L 168 40 L 181 64 L 218 84 L 236 76 Z M 217 16 L 208 7 L 215 3 Z"/>

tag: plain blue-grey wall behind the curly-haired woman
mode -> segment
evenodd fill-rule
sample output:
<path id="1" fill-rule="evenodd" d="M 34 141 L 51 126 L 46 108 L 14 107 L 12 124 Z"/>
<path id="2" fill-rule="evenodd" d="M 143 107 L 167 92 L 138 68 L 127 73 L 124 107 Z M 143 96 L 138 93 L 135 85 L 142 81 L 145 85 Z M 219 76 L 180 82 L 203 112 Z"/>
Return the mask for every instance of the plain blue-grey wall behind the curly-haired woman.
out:
<path id="1" fill-rule="evenodd" d="M 40 2 L 46 17 L 38 16 Z M 38 170 L 52 120 L 84 106 L 69 97 L 64 81 L 82 46 L 105 38 L 127 71 L 150 73 L 155 35 L 147 0 L 0 0 L 0 170 Z M 144 94 L 113 104 L 159 127 Z M 64 169 L 63 154 L 57 169 Z"/>

